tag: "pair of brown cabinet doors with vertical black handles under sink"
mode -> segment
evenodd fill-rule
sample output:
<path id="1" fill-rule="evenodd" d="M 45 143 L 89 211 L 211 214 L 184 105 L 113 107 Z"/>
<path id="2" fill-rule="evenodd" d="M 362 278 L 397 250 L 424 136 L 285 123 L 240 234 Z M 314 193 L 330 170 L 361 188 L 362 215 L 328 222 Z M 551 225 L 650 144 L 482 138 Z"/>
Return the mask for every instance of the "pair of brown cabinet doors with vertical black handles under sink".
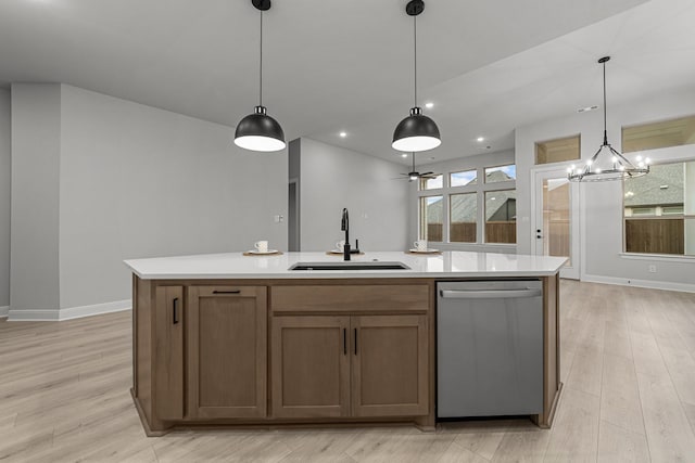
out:
<path id="1" fill-rule="evenodd" d="M 429 412 L 427 316 L 273 318 L 275 417 Z"/>

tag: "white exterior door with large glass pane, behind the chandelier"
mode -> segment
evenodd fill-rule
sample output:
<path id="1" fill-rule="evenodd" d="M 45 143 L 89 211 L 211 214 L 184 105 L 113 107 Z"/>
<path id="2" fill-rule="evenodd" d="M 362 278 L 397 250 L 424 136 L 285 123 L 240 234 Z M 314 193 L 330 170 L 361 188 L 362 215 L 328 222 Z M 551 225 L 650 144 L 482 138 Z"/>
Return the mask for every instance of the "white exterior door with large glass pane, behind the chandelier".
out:
<path id="1" fill-rule="evenodd" d="M 568 257 L 561 278 L 579 280 L 579 184 L 566 170 L 534 173 L 532 248 L 543 256 Z"/>

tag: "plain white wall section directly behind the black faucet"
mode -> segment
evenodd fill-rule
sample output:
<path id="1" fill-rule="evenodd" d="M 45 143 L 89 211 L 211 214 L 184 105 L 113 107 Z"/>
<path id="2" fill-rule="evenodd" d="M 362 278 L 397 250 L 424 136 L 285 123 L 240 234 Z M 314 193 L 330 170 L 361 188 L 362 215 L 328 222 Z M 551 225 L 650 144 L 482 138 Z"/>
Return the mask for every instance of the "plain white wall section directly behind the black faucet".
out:
<path id="1" fill-rule="evenodd" d="M 328 250 L 342 240 L 340 219 L 350 210 L 350 240 L 361 249 L 402 250 L 407 240 L 404 167 L 366 154 L 301 140 L 302 250 Z"/>

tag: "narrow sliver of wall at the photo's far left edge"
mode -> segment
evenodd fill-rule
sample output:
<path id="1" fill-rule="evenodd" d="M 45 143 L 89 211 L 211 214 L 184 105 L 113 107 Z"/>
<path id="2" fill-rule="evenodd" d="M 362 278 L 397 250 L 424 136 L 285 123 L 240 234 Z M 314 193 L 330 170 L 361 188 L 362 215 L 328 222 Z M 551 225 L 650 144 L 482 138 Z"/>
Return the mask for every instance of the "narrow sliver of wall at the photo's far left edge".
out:
<path id="1" fill-rule="evenodd" d="M 10 91 L 0 89 L 0 317 L 10 307 L 10 204 L 12 146 Z"/>

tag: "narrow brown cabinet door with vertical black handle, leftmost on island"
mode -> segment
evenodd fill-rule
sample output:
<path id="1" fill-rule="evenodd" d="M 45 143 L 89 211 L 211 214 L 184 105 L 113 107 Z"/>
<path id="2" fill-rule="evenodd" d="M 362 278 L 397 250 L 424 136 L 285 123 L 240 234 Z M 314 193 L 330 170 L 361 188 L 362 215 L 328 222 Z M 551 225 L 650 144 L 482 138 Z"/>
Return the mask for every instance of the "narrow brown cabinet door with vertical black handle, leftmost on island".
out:
<path id="1" fill-rule="evenodd" d="M 154 310 L 154 412 L 184 417 L 184 287 L 157 286 Z"/>

